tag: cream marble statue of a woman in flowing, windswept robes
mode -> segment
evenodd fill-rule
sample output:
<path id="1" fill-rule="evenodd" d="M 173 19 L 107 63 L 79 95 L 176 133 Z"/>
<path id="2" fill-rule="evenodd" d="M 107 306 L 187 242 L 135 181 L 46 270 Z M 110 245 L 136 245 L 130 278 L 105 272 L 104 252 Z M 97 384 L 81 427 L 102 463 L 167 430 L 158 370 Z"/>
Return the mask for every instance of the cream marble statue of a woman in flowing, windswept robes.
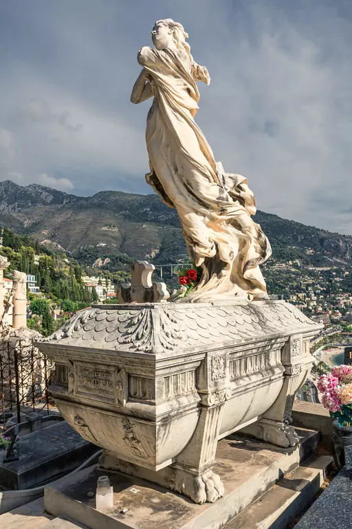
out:
<path id="1" fill-rule="evenodd" d="M 159 20 L 152 31 L 155 48 L 145 46 L 137 56 L 142 72 L 131 101 L 154 98 L 146 125 L 146 180 L 177 210 L 190 258 L 203 269 L 184 301 L 265 298 L 259 264 L 270 257 L 270 243 L 251 218 L 256 203 L 246 178 L 224 172 L 195 123 L 196 81 L 209 84 L 210 77 L 192 58 L 186 37 L 181 24 Z"/>

